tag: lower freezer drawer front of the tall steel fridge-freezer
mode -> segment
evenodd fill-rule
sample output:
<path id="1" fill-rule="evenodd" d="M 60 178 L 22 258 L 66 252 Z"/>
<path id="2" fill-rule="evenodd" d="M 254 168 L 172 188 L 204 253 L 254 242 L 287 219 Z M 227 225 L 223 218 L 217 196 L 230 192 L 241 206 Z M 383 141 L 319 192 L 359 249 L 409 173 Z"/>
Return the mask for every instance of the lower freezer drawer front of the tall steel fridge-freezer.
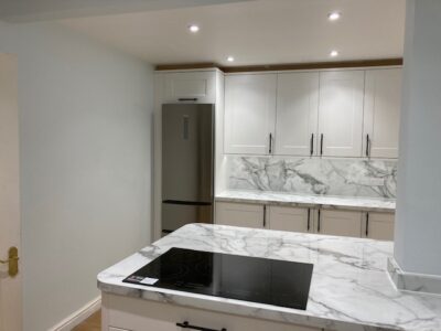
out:
<path id="1" fill-rule="evenodd" d="M 162 203 L 162 232 L 170 233 L 190 223 L 213 223 L 212 203 Z"/>

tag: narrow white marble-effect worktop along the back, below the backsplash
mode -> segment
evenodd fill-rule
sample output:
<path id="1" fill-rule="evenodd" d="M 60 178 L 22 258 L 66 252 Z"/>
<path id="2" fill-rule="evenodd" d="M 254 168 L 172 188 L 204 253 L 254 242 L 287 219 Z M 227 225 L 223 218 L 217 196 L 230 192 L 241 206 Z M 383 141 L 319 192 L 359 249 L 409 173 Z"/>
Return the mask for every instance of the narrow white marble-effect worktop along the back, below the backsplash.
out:
<path id="1" fill-rule="evenodd" d="M 269 191 L 224 191 L 216 195 L 216 201 L 263 203 L 286 206 L 341 209 L 365 212 L 395 212 L 395 200 L 374 197 L 345 197 L 329 195 L 297 195 Z"/>

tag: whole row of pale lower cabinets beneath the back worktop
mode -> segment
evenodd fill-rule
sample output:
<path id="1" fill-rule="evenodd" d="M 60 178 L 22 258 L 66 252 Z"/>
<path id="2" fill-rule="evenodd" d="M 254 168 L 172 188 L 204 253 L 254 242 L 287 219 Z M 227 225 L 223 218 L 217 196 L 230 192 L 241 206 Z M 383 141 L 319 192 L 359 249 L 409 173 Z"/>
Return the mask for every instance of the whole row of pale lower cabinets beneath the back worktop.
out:
<path id="1" fill-rule="evenodd" d="M 217 202 L 215 223 L 299 233 L 394 239 L 394 213 Z"/>

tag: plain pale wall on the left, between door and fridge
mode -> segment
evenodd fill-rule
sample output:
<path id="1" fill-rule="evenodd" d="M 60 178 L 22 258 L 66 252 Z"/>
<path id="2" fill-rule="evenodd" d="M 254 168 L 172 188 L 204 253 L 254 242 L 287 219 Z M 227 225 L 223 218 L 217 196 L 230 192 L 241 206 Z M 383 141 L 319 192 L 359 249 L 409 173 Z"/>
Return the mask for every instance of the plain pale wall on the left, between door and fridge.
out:
<path id="1" fill-rule="evenodd" d="M 56 23 L 0 22 L 19 58 L 24 330 L 96 298 L 150 241 L 150 65 Z"/>

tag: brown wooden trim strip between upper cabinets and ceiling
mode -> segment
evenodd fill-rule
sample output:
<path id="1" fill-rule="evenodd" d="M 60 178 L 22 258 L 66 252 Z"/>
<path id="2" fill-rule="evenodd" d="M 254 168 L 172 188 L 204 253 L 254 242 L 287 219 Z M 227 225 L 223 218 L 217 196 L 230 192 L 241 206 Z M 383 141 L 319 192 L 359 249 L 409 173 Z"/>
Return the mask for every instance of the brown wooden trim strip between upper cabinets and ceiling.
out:
<path id="1" fill-rule="evenodd" d="M 355 60 L 340 62 L 310 62 L 292 64 L 270 64 L 270 65 L 244 65 L 244 66 L 219 66 L 216 63 L 184 63 L 184 64 L 161 64 L 157 65 L 157 71 L 178 71 L 178 70 L 198 70 L 217 67 L 224 73 L 251 73 L 251 72 L 281 72 L 281 71 L 305 71 L 305 70 L 327 70 L 327 68 L 351 68 L 351 67 L 379 67 L 399 66 L 402 58 L 377 58 L 377 60 Z"/>

